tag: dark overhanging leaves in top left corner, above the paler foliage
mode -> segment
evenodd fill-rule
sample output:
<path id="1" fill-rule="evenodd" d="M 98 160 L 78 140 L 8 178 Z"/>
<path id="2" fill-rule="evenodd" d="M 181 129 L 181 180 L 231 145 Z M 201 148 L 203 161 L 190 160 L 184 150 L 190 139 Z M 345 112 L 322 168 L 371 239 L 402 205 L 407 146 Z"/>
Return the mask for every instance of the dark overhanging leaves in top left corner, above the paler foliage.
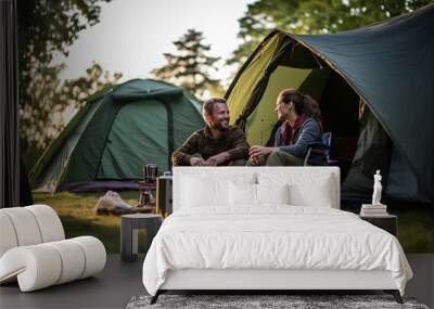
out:
<path id="1" fill-rule="evenodd" d="M 67 47 L 78 34 L 100 22 L 101 1 L 110 0 L 18 1 L 20 69 L 24 85 L 33 77 L 31 68 L 50 64 L 55 52 L 66 56 Z"/>

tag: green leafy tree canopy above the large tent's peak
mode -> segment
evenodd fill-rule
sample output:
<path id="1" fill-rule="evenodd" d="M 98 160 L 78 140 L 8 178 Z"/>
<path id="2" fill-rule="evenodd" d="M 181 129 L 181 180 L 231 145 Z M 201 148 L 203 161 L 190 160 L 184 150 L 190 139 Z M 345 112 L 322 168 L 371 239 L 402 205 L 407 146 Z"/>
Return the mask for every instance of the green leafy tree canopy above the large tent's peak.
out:
<path id="1" fill-rule="evenodd" d="M 258 0 L 239 20 L 242 43 L 227 61 L 243 63 L 273 28 L 294 34 L 355 29 L 419 9 L 432 0 Z"/>

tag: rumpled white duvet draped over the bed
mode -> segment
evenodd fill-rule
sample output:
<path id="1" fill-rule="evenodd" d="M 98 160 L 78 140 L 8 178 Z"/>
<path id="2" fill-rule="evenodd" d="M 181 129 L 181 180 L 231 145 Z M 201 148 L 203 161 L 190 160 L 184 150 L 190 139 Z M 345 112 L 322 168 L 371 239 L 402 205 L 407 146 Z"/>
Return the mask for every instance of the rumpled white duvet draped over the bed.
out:
<path id="1" fill-rule="evenodd" d="M 288 205 L 170 215 L 144 259 L 143 284 L 155 295 L 179 269 L 388 270 L 403 295 L 412 278 L 390 233 L 347 211 Z"/>

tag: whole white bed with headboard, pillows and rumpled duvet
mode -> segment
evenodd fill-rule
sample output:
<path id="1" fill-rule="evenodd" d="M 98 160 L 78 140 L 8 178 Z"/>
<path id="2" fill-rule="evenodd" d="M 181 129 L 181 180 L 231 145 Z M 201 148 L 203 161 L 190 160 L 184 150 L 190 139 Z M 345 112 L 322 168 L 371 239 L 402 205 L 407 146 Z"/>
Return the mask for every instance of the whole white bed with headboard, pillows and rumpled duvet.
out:
<path id="1" fill-rule="evenodd" d="M 339 210 L 339 192 L 335 167 L 175 168 L 143 284 L 153 301 L 167 289 L 385 289 L 399 301 L 412 272 L 398 241 Z"/>

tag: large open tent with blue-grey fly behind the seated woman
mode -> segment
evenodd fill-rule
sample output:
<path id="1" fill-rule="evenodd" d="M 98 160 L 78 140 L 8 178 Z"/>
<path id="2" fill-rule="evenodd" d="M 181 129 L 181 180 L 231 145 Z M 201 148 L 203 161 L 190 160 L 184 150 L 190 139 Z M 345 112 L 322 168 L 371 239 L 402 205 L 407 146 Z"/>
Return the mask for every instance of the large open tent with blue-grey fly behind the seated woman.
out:
<path id="1" fill-rule="evenodd" d="M 316 99 L 342 193 L 369 198 L 381 169 L 385 196 L 434 202 L 434 5 L 355 30 L 273 30 L 238 72 L 226 98 L 251 144 L 272 142 L 280 90 Z"/>

